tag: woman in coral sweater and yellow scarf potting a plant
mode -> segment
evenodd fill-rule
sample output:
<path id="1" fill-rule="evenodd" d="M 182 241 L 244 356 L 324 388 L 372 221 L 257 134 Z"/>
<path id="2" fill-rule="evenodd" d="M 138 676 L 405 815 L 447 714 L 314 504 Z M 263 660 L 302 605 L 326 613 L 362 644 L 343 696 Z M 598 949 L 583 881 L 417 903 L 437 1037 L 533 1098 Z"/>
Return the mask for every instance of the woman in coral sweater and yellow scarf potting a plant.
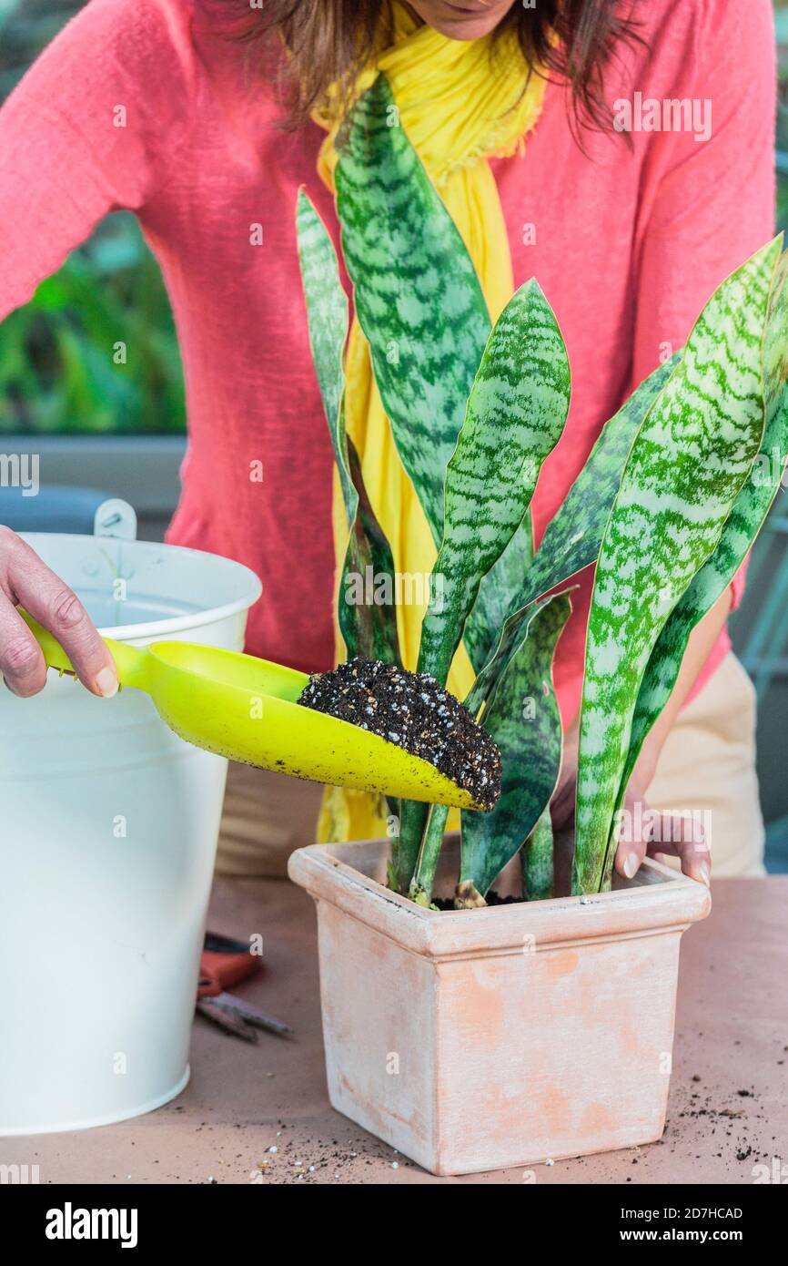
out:
<path id="1" fill-rule="evenodd" d="M 262 58 L 239 38 L 250 20 Z M 773 232 L 768 0 L 751 0 L 744 18 L 735 0 L 91 0 L 0 113 L 0 318 L 106 211 L 137 213 L 169 290 L 187 384 L 190 446 L 168 539 L 253 567 L 264 591 L 248 648 L 309 670 L 334 656 L 331 452 L 293 204 L 305 185 L 338 235 L 329 185 L 342 104 L 378 67 L 406 129 L 409 106 L 421 120 L 411 139 L 493 315 L 507 286 L 535 275 L 563 329 L 574 392 L 534 499 L 538 541 L 603 422 Z M 436 158 L 438 125 L 452 141 Z M 373 396 L 362 429 L 381 425 Z M 392 487 L 406 496 L 386 451 L 371 471 L 367 449 L 366 473 L 383 499 Z M 262 484 L 250 479 L 261 460 Z M 393 527 L 407 551 L 407 515 Z M 583 573 L 557 657 L 567 729 L 558 825 L 570 817 L 591 582 Z M 741 587 L 737 577 L 696 629 L 630 786 L 630 803 L 648 791 L 660 810 L 711 810 L 718 874 L 761 868 L 754 705 L 725 630 Z M 59 637 L 90 690 L 114 693 L 111 661 L 78 601 L 10 532 L 0 589 L 11 690 L 34 694 L 46 677 L 19 603 Z M 220 863 L 282 870 L 316 814 L 316 789 L 233 771 Z M 648 836 L 622 838 L 621 874 L 649 847 L 678 853 L 708 881 L 707 843 L 658 847 Z"/>

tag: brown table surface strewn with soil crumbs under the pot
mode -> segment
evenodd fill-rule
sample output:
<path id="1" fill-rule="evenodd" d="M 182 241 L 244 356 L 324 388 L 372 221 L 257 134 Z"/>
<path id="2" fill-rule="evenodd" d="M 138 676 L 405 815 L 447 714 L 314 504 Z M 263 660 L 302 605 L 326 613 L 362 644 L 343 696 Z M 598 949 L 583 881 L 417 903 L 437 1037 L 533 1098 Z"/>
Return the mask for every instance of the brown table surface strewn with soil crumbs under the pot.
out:
<path id="1" fill-rule="evenodd" d="M 300 889 L 218 880 L 210 927 L 263 933 L 267 970 L 237 991 L 288 1020 L 295 1038 L 250 1046 L 197 1017 L 191 1082 L 173 1103 L 100 1129 L 0 1139 L 0 1162 L 38 1163 L 42 1184 L 522 1184 L 521 1169 L 436 1179 L 329 1106 L 315 913 Z M 682 942 L 664 1137 L 536 1166 L 536 1181 L 750 1184 L 755 1165 L 788 1165 L 787 982 L 788 876 L 718 880 L 712 914 Z"/>

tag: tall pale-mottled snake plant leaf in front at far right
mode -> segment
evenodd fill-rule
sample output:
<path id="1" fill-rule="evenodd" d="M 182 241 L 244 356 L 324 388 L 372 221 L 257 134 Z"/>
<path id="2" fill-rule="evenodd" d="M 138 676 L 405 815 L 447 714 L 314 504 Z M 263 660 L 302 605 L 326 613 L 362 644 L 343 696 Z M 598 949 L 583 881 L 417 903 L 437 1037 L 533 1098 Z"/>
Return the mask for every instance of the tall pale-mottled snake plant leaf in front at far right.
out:
<path id="1" fill-rule="evenodd" d="M 713 552 L 764 430 L 761 346 L 779 243 L 715 292 L 643 423 L 597 562 L 581 713 L 573 889 L 602 884 L 651 649 Z"/>

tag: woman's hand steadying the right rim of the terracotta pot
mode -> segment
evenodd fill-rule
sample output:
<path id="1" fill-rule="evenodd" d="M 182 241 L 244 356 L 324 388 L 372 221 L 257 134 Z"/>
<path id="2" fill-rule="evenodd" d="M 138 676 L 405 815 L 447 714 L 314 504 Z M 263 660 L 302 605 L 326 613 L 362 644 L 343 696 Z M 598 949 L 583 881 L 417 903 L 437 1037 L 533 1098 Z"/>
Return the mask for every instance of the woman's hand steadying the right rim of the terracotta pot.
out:
<path id="1" fill-rule="evenodd" d="M 574 846 L 574 796 L 577 789 L 577 723 L 564 739 L 564 755 L 558 786 L 550 801 L 550 817 L 557 844 L 557 891 L 569 891 L 570 858 Z M 621 813 L 616 870 L 624 879 L 637 874 L 644 857 L 679 857 L 682 871 L 708 886 L 711 853 L 701 823 L 649 809 L 645 793 L 656 770 L 659 748 L 646 742 L 632 771 Z"/>

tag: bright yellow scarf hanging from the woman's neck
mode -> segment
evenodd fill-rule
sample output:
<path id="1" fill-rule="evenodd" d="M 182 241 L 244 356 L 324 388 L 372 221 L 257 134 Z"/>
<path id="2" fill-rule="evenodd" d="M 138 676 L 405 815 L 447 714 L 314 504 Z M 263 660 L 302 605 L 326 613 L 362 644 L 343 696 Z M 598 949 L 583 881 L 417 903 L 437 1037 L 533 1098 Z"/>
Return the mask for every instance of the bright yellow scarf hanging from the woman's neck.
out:
<path id="1" fill-rule="evenodd" d="M 479 277 L 491 320 L 496 320 L 514 291 L 511 256 L 501 200 L 488 157 L 522 152 L 524 137 L 534 127 L 544 95 L 544 80 L 533 75 L 526 86 L 522 54 L 514 33 L 505 32 L 491 48 L 491 37 L 448 39 L 419 25 L 401 5 L 393 5 L 393 42 L 382 48 L 360 73 L 358 97 L 382 71 L 400 111 L 400 123 L 421 158 L 446 210 L 457 224 Z M 491 61 L 492 57 L 492 61 Z M 335 141 L 340 110 L 331 103 L 314 118 L 328 130 L 317 171 L 334 187 Z M 360 454 L 369 500 L 386 533 L 397 572 L 429 576 L 436 551 L 414 487 L 402 470 L 388 419 L 372 373 L 369 346 L 353 322 L 348 343 L 345 422 Z M 343 560 L 348 527 L 339 481 L 334 482 L 334 544 Z M 415 670 L 424 606 L 397 609 L 400 649 L 406 668 Z M 339 643 L 340 644 L 340 643 Z M 344 652 L 343 652 L 344 653 Z M 460 644 L 448 687 L 464 699 L 473 668 Z M 326 789 L 317 827 L 321 841 L 369 839 L 385 833 L 383 803 L 366 793 Z M 452 819 L 449 825 L 453 825 Z"/>

